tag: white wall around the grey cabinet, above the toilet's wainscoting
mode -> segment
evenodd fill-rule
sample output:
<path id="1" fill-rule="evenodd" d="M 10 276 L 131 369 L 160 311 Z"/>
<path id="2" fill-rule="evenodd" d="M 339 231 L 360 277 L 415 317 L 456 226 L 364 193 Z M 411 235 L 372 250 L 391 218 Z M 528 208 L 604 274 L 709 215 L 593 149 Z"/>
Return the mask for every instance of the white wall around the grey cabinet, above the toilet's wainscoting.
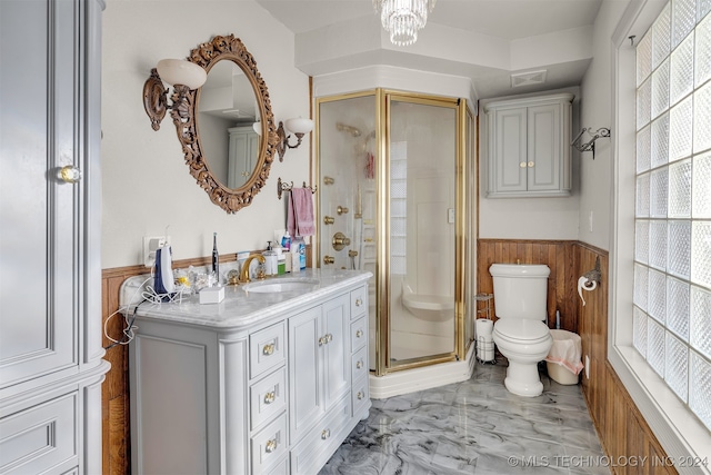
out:
<path id="1" fill-rule="evenodd" d="M 594 61 L 593 61 L 594 62 Z M 571 92 L 573 99 L 573 135 L 580 131 L 578 121 L 579 88 L 555 89 L 543 92 Z M 532 96 L 541 96 L 537 93 Z M 525 97 L 531 95 L 521 95 Z M 509 98 L 509 97 L 507 97 Z M 492 98 L 480 101 L 479 110 Z M 484 176 L 487 160 L 487 125 L 485 116 L 480 115 L 480 192 L 479 192 L 479 237 L 482 239 L 578 239 L 578 216 L 580 209 L 580 156 L 572 154 L 572 185 L 571 196 L 562 198 L 487 198 Z"/>

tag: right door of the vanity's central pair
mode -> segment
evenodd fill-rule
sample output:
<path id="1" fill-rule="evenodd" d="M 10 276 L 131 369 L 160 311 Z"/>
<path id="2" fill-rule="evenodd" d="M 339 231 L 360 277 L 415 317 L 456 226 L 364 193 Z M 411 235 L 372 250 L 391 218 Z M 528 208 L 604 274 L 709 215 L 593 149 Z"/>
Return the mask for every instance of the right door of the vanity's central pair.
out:
<path id="1" fill-rule="evenodd" d="M 326 405 L 328 408 L 350 386 L 350 295 L 323 304 L 323 348 Z"/>

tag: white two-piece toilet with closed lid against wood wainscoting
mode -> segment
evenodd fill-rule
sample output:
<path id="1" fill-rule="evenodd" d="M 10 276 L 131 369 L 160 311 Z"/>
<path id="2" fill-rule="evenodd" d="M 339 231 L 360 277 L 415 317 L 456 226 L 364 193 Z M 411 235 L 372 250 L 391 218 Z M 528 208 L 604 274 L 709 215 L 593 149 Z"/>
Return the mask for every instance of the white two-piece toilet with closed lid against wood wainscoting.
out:
<path id="1" fill-rule="evenodd" d="M 493 342 L 509 360 L 504 385 L 519 396 L 543 392 L 538 363 L 553 345 L 547 320 L 548 276 L 545 265 L 492 264 L 495 315 Z"/>

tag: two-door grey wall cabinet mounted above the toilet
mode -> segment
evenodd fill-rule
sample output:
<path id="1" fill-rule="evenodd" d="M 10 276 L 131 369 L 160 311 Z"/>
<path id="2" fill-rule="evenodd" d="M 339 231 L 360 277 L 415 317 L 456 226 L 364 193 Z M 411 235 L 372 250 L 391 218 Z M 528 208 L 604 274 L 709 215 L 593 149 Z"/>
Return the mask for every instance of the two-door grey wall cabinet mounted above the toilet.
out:
<path id="1" fill-rule="evenodd" d="M 571 93 L 489 102 L 487 197 L 570 196 Z"/>

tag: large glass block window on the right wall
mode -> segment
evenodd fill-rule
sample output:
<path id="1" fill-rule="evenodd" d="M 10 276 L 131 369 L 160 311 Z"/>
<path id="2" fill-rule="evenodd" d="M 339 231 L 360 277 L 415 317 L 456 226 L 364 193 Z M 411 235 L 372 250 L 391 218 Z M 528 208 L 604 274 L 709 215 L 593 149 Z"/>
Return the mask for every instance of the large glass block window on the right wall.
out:
<path id="1" fill-rule="evenodd" d="M 632 344 L 711 429 L 711 2 L 671 0 L 637 47 Z"/>

